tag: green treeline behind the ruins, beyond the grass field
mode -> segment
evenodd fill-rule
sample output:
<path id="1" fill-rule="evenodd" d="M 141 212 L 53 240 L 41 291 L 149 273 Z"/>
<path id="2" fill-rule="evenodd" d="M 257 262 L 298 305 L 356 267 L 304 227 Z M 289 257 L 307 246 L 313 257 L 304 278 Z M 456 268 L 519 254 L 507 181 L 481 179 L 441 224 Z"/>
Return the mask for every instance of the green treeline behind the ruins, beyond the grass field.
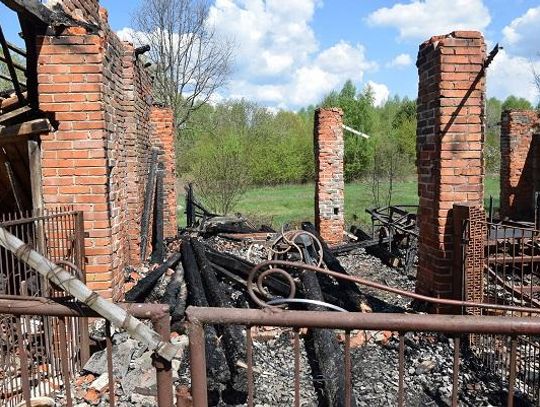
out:
<path id="1" fill-rule="evenodd" d="M 362 91 L 347 81 L 339 92 L 326 95 L 318 106 L 340 107 L 343 122 L 370 136 L 345 132 L 345 179 L 370 180 L 374 188 L 414 176 L 416 101 L 394 96 L 374 105 L 369 87 Z M 219 190 L 220 201 L 248 186 L 303 183 L 314 180 L 313 117 L 317 106 L 273 111 L 246 100 L 203 105 L 177 139 L 178 173 L 205 193 Z M 532 108 L 522 98 L 486 103 L 486 166 L 499 167 L 499 121 L 505 108 Z M 229 180 L 234 180 L 231 182 Z M 375 193 L 375 192 L 374 192 Z M 231 202 L 230 205 L 234 203 Z M 221 204 L 220 204 L 221 205 Z M 230 209 L 230 208 L 229 208 Z"/>

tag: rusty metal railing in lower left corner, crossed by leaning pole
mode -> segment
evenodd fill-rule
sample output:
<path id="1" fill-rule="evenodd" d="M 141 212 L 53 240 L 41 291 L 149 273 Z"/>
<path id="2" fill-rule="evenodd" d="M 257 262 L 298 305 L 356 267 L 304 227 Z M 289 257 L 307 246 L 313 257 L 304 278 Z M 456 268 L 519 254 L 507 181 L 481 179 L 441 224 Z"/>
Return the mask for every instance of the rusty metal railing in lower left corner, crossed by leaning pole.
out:
<path id="1" fill-rule="evenodd" d="M 158 332 L 163 338 L 170 337 L 170 315 L 169 307 L 166 305 L 160 304 L 120 304 L 130 315 L 150 320 L 153 324 L 154 329 Z M 12 324 L 16 327 L 17 335 L 16 345 L 13 348 L 13 354 L 11 357 L 19 357 L 20 371 L 19 377 L 16 380 L 19 383 L 17 388 L 11 387 L 11 390 L 18 395 L 17 403 L 23 401 L 26 402 L 27 406 L 30 406 L 30 399 L 36 394 L 32 392 L 36 386 L 43 387 L 43 379 L 49 380 L 49 377 L 32 377 L 31 376 L 31 355 L 29 355 L 28 347 L 28 335 L 24 331 L 25 321 L 29 317 L 38 316 L 38 317 L 48 317 L 58 321 L 58 324 L 61 328 L 58 342 L 58 349 L 60 351 L 60 377 L 54 379 L 57 383 L 57 388 L 50 389 L 49 392 L 45 394 L 40 393 L 40 395 L 50 396 L 51 393 L 60 393 L 65 395 L 65 402 L 67 407 L 73 406 L 73 400 L 71 397 L 71 384 L 74 375 L 78 370 L 72 370 L 70 364 L 68 363 L 68 354 L 67 354 L 67 330 L 65 325 L 65 320 L 67 318 L 99 318 L 94 311 L 88 308 L 85 305 L 74 302 L 65 302 L 60 303 L 53 299 L 47 298 L 36 298 L 32 300 L 8 300 L 0 299 L 0 314 L 9 315 L 11 318 Z M 106 351 L 107 351 L 107 371 L 109 376 L 109 405 L 115 406 L 115 378 L 113 375 L 113 365 L 112 365 L 112 340 L 110 337 L 110 329 L 106 330 L 107 340 L 106 340 Z M 16 352 L 15 352 L 16 351 Z M 156 370 L 157 376 L 157 397 L 156 405 L 159 407 L 172 407 L 173 405 L 173 378 L 170 362 L 159 358 L 153 358 L 153 366 Z M 40 382 L 41 379 L 41 382 Z M 59 379 L 62 379 L 60 381 Z M 15 401 L 13 398 L 10 400 Z M 1 404 L 10 405 L 7 403 L 6 399 L 0 398 Z"/>

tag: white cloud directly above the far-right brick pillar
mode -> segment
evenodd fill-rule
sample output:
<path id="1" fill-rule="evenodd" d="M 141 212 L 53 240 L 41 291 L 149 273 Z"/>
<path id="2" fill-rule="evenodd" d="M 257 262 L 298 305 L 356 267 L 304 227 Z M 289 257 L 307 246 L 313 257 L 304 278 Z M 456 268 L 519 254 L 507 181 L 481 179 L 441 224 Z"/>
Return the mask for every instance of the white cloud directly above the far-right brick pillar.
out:
<path id="1" fill-rule="evenodd" d="M 540 60 L 531 62 L 529 58 L 510 55 L 501 50 L 487 71 L 487 93 L 500 99 L 509 95 L 524 97 L 535 104 L 538 89 L 534 84 L 533 66 L 540 72 Z"/>

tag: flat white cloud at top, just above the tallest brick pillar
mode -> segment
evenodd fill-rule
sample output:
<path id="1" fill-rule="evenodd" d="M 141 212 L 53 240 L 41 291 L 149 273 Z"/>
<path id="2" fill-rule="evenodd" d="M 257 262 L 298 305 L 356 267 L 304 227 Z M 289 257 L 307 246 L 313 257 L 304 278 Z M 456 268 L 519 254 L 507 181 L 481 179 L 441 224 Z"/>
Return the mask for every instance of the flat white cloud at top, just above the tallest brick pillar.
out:
<path id="1" fill-rule="evenodd" d="M 484 30 L 491 21 L 482 0 L 413 0 L 371 13 L 372 25 L 399 30 L 401 39 L 425 40 L 456 30 Z"/>

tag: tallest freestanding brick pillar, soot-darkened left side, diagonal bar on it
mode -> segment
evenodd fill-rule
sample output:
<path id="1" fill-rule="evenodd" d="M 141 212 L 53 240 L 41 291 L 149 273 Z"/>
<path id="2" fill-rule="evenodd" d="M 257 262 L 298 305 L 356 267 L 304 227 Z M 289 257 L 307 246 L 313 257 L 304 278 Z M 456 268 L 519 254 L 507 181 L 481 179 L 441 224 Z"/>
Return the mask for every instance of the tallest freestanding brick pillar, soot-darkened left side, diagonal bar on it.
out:
<path id="1" fill-rule="evenodd" d="M 452 206 L 483 205 L 485 56 L 483 37 L 474 31 L 432 37 L 418 52 L 416 289 L 422 294 L 452 296 Z"/>

